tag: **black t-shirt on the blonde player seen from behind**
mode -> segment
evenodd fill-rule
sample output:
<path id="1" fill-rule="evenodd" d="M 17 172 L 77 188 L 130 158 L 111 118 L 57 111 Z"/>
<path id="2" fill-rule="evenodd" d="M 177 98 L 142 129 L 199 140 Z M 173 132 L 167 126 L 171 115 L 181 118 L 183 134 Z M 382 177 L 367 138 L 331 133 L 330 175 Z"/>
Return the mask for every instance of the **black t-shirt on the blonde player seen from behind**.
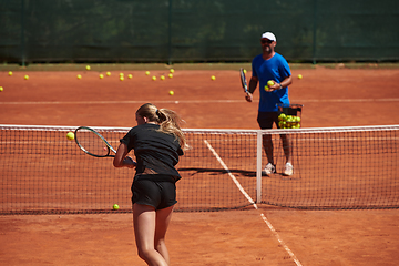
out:
<path id="1" fill-rule="evenodd" d="M 137 161 L 136 175 L 149 168 L 156 175 L 174 176 L 177 181 L 181 176 L 174 166 L 178 163 L 178 156 L 184 154 L 183 150 L 175 135 L 158 130 L 157 124 L 134 126 L 121 139 L 121 143 L 127 146 L 127 151 L 134 150 Z"/>

